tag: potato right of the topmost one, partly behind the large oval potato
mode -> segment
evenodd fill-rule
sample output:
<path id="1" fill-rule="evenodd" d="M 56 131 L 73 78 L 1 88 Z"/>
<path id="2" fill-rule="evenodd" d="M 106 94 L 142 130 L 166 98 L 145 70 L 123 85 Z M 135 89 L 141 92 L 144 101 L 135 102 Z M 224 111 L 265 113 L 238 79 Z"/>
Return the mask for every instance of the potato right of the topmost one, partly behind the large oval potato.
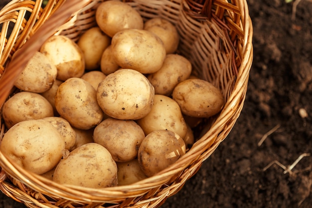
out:
<path id="1" fill-rule="evenodd" d="M 179 45 L 179 34 L 171 22 L 155 17 L 144 23 L 144 29 L 155 33 L 162 40 L 167 54 L 176 51 Z"/>

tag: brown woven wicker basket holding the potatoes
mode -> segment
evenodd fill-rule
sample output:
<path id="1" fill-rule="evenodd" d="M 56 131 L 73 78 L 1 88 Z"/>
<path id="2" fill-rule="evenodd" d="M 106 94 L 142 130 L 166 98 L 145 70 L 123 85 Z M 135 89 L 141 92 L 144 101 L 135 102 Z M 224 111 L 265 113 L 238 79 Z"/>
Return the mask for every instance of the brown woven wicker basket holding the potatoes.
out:
<path id="1" fill-rule="evenodd" d="M 64 1 L 49 0 L 42 8 L 42 0 L 11 0 L 0 10 L 0 107 L 12 93 L 14 77 L 47 37 L 65 34 L 77 40 L 95 25 L 95 9 L 101 0 Z M 159 207 L 198 171 L 234 126 L 243 108 L 253 59 L 246 0 L 126 2 L 144 19 L 160 16 L 176 25 L 181 39 L 178 53 L 191 61 L 198 76 L 221 89 L 226 100 L 222 112 L 194 129 L 195 144 L 175 164 L 128 186 L 59 185 L 26 172 L 0 153 L 0 189 L 8 197 L 30 208 Z M 6 129 L 3 122 L 0 125 L 2 138 Z"/>

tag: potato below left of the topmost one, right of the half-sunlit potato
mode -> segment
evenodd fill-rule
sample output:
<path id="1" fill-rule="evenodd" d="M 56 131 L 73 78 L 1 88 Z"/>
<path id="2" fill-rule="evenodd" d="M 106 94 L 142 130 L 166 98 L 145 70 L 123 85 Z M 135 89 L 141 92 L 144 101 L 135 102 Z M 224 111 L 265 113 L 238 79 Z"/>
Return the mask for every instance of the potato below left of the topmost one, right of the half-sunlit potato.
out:
<path id="1" fill-rule="evenodd" d="M 92 27 L 81 35 L 77 42 L 83 52 L 86 70 L 100 68 L 102 54 L 111 44 L 111 38 L 99 27 Z"/>

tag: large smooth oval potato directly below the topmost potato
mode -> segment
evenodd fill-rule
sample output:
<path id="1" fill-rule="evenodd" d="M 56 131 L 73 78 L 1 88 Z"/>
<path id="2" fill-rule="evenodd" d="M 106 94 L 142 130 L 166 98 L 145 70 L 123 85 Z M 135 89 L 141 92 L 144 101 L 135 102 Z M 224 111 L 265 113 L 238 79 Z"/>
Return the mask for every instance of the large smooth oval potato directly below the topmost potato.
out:
<path id="1" fill-rule="evenodd" d="M 147 30 L 120 31 L 113 36 L 111 45 L 112 54 L 119 66 L 143 74 L 158 71 L 166 56 L 161 39 Z"/>

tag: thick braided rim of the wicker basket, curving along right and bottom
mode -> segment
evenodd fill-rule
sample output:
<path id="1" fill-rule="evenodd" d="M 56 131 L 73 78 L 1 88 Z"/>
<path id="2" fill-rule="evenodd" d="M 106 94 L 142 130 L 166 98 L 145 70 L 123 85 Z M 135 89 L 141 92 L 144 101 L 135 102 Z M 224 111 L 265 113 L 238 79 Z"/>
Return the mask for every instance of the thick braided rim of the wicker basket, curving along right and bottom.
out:
<path id="1" fill-rule="evenodd" d="M 74 1 L 69 1 L 69 2 L 74 2 Z M 86 2 L 87 0 L 85 0 L 84 3 L 86 4 Z M 225 1 L 222 1 L 222 0 L 215 0 L 215 2 L 218 5 L 224 5 L 225 8 L 228 8 L 229 6 L 229 4 L 226 4 Z M 28 187 L 33 188 L 34 190 L 38 189 L 38 186 L 32 186 L 33 184 L 31 182 L 36 182 L 37 185 L 41 184 L 40 187 L 45 188 L 42 190 L 40 188 L 39 191 L 42 193 L 54 192 L 53 194 L 57 194 L 58 197 L 68 199 L 68 200 L 75 199 L 76 201 L 103 202 L 103 201 L 108 200 L 109 197 L 104 197 L 101 199 L 100 196 L 102 195 L 109 196 L 112 193 L 114 193 L 113 195 L 118 201 L 119 199 L 117 196 L 120 196 L 121 199 L 124 198 L 125 195 L 127 195 L 127 190 L 129 191 L 129 193 L 137 192 L 138 193 L 137 196 L 142 196 L 142 194 L 150 191 L 151 188 L 153 189 L 153 188 L 158 187 L 159 183 L 155 183 L 155 181 L 159 182 L 160 180 L 162 184 L 167 183 L 168 179 L 171 178 L 171 176 L 189 167 L 190 161 L 195 161 L 199 159 L 201 162 L 203 162 L 204 160 L 206 160 L 213 153 L 213 151 L 218 147 L 218 145 L 226 138 L 226 136 L 228 135 L 228 133 L 230 132 L 230 130 L 232 129 L 234 125 L 233 124 L 232 126 L 226 126 L 225 121 L 229 120 L 233 116 L 233 111 L 235 110 L 237 111 L 236 112 L 238 114 L 237 118 L 241 112 L 241 109 L 243 107 L 242 102 L 244 102 L 245 95 L 246 95 L 249 70 L 251 68 L 251 64 L 253 60 L 253 46 L 252 46 L 253 28 L 252 28 L 252 21 L 249 16 L 247 2 L 246 0 L 232 0 L 232 2 L 235 2 L 236 4 L 238 4 L 237 6 L 239 7 L 238 11 L 236 10 L 237 7 L 233 7 L 232 9 L 234 9 L 233 13 L 239 13 L 240 18 L 241 18 L 240 24 L 242 24 L 241 26 L 244 28 L 243 33 L 242 33 L 244 42 L 242 43 L 243 47 L 240 49 L 241 54 L 243 54 L 243 56 L 242 56 L 242 59 L 240 60 L 241 62 L 240 70 L 238 70 L 235 86 L 232 89 L 232 93 L 228 97 L 223 110 L 220 112 L 215 122 L 210 127 L 209 131 L 207 131 L 203 136 L 201 136 L 201 138 L 195 142 L 193 147 L 172 166 L 159 172 L 153 177 L 144 179 L 135 184 L 117 186 L 117 187 L 108 187 L 108 188 L 103 188 L 103 189 L 90 189 L 90 188 L 82 188 L 82 187 L 75 187 L 75 186 L 68 186 L 68 185 L 59 185 L 55 182 L 51 182 L 50 180 L 45 179 L 42 176 L 38 176 L 30 172 L 25 172 L 21 167 L 13 165 L 12 162 L 10 162 L 4 155 L 2 155 L 2 153 L 0 153 L 0 164 L 6 165 L 6 170 L 9 169 L 10 172 L 15 174 L 16 176 L 15 180 L 27 182 L 25 184 Z M 73 13 L 75 12 L 71 12 L 71 14 Z M 52 18 L 53 17 L 51 17 L 50 20 Z M 72 22 L 69 21 L 67 25 L 62 24 L 61 27 L 58 27 L 58 28 L 60 30 L 64 30 L 72 26 L 72 23 L 74 22 L 75 22 L 75 19 L 72 20 Z M 38 28 L 37 31 L 40 32 L 41 28 Z M 34 33 L 33 36 L 35 36 L 35 34 L 36 33 Z M 49 35 L 50 34 L 51 33 L 49 33 Z M 27 42 L 25 44 L 27 44 Z M 28 45 L 29 46 L 28 49 L 30 48 L 30 45 L 31 44 Z M 32 47 L 34 46 L 32 45 Z M 29 50 L 33 50 L 33 49 L 30 48 Z M 244 96 L 240 97 L 237 95 L 244 95 Z M 235 121 L 237 120 L 237 118 L 235 119 Z M 235 123 L 235 121 L 233 122 Z M 3 128 L 4 127 L 2 124 L 2 127 L 1 127 L 2 131 L 4 131 Z M 226 131 L 224 131 L 224 129 L 226 129 Z M 218 139 L 219 138 L 218 135 L 221 133 L 221 131 L 224 131 L 224 133 L 222 133 L 223 137 L 222 139 Z M 3 132 L 2 132 L 2 135 L 3 135 Z M 207 140 L 208 137 L 210 138 L 209 140 Z M 207 151 L 207 148 L 211 146 L 213 146 L 213 148 L 210 151 L 203 154 L 205 151 Z M 20 173 L 23 173 L 23 174 L 20 174 Z M 14 175 L 14 174 L 9 174 L 9 175 Z M 3 174 L 2 174 L 2 177 L 3 177 Z M 4 183 L 3 180 L 0 182 Z M 54 188 L 57 188 L 58 190 L 55 190 Z M 76 199 L 77 197 L 72 196 L 73 193 L 76 193 L 77 194 L 76 196 L 79 196 L 80 199 Z M 87 193 L 91 193 L 91 194 L 87 194 Z"/>

